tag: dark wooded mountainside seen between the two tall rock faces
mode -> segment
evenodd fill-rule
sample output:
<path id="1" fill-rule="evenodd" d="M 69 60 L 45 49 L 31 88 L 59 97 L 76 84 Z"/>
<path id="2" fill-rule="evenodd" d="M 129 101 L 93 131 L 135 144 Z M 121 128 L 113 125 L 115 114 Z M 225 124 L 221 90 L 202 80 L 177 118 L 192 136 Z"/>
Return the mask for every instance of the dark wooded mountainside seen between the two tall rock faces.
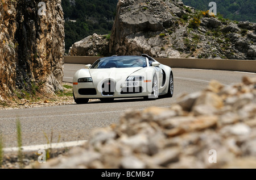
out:
<path id="1" fill-rule="evenodd" d="M 73 43 L 94 33 L 110 34 L 117 0 L 62 0 L 65 52 Z"/>

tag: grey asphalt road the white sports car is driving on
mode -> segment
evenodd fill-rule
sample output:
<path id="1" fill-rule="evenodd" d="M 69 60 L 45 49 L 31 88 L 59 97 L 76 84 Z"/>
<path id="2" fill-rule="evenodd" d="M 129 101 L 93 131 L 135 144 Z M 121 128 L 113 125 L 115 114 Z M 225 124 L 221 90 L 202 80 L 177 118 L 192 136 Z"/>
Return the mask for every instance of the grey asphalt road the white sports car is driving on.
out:
<path id="1" fill-rule="evenodd" d="M 65 82 L 72 82 L 73 74 L 84 65 L 65 64 Z M 92 130 L 117 123 L 127 109 L 142 110 L 150 106 L 170 107 L 179 94 L 192 93 L 204 89 L 211 79 L 223 85 L 241 82 L 243 76 L 255 77 L 255 73 L 230 72 L 222 70 L 200 70 L 174 68 L 174 97 L 143 101 L 142 98 L 115 99 L 112 103 L 100 101 L 88 104 L 39 107 L 20 110 L 0 110 L 0 131 L 5 147 L 17 146 L 16 119 L 22 125 L 22 145 L 47 144 L 53 132 L 52 143 L 86 140 Z"/>

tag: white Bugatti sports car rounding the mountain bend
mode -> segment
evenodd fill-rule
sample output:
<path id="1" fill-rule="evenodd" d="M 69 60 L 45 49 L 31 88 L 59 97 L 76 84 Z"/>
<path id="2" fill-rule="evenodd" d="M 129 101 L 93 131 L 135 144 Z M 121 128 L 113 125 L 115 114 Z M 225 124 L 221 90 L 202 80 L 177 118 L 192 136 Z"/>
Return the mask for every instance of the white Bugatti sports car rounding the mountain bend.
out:
<path id="1" fill-rule="evenodd" d="M 114 98 L 156 99 L 174 94 L 172 69 L 148 55 L 102 57 L 85 68 L 73 77 L 77 104 L 89 99 L 110 102 Z"/>

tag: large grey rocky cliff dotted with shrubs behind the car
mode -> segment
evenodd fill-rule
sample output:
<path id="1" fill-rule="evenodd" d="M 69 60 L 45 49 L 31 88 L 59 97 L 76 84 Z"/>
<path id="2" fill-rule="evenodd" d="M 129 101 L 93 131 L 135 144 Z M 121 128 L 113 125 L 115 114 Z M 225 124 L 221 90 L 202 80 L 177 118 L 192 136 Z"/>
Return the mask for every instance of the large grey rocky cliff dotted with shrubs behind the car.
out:
<path id="1" fill-rule="evenodd" d="M 256 60 L 256 23 L 209 15 L 176 0 L 119 0 L 109 55 L 142 53 Z"/>

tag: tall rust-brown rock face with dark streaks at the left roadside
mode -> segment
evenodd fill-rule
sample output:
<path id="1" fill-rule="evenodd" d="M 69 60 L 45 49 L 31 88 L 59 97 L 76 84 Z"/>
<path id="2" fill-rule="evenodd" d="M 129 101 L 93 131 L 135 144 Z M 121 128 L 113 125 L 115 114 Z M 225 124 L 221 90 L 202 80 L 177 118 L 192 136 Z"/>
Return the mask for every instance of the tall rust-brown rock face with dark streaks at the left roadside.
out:
<path id="1" fill-rule="evenodd" d="M 64 18 L 60 0 L 0 3 L 0 94 L 30 93 L 35 86 L 63 90 Z"/>

